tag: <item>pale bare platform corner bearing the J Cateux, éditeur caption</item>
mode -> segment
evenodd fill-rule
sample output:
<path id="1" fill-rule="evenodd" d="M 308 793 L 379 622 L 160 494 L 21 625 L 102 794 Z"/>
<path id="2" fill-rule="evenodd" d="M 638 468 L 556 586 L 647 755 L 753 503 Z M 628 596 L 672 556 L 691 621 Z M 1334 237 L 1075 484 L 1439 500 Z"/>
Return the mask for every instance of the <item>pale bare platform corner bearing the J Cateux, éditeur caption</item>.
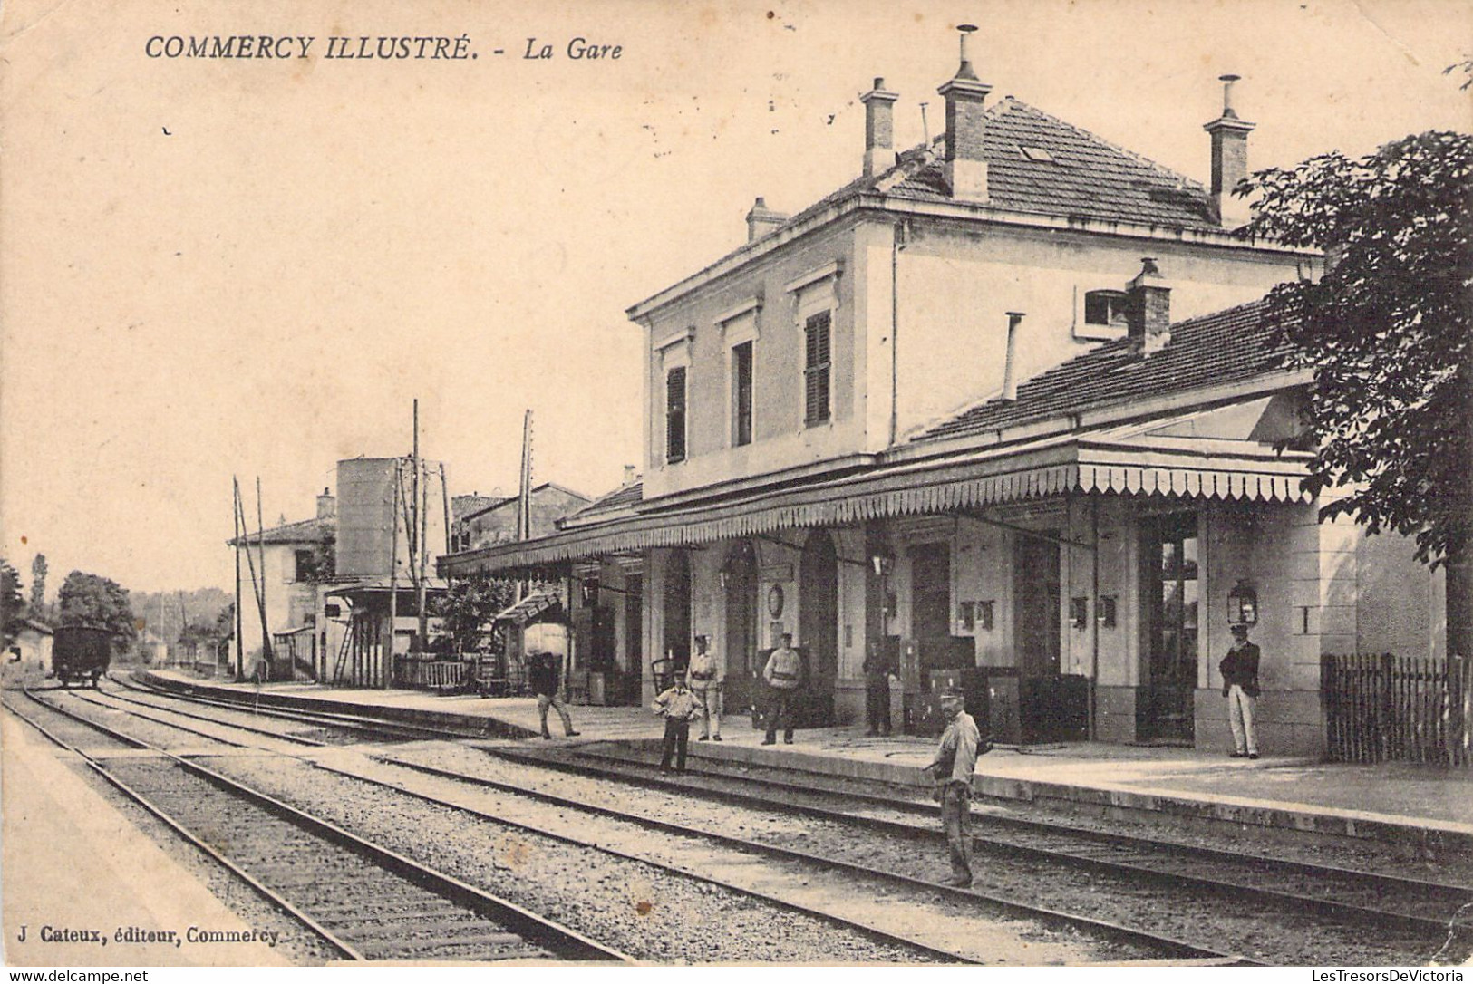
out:
<path id="1" fill-rule="evenodd" d="M 0 744 L 4 747 L 0 962 L 7 966 L 290 965 L 281 949 L 253 938 L 253 928 L 203 881 L 59 762 L 69 753 L 10 714 L 0 717 Z M 228 941 L 202 941 L 199 931 Z M 174 934 L 174 941 L 164 938 L 166 934 Z"/>

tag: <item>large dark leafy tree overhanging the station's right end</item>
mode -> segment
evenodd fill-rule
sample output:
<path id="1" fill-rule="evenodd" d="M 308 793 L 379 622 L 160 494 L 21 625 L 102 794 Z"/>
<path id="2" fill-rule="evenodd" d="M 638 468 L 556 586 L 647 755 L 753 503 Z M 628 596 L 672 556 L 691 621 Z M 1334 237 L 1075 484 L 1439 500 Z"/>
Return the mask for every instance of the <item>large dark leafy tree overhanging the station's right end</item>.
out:
<path id="1" fill-rule="evenodd" d="M 1307 489 L 1320 519 L 1416 536 L 1446 569 L 1448 653 L 1473 656 L 1473 137 L 1424 133 L 1251 175 L 1248 228 L 1326 250 L 1320 280 L 1268 295 L 1289 362 L 1312 367 Z"/>

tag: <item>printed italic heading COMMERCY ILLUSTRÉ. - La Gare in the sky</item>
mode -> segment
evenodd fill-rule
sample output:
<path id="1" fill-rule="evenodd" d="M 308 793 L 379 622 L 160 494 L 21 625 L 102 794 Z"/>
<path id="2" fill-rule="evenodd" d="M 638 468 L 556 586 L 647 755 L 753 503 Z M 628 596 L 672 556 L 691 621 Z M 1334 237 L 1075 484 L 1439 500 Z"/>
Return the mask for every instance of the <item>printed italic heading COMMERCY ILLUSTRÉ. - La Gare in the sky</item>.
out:
<path id="1" fill-rule="evenodd" d="M 300 34 L 205 34 L 205 35 L 162 35 L 155 34 L 143 44 L 143 53 L 149 57 L 231 57 L 231 59 L 302 59 L 324 57 L 334 60 L 430 60 L 430 62 L 464 62 L 480 57 L 471 49 L 470 35 L 415 35 L 415 37 L 339 37 L 330 35 L 318 38 Z M 591 41 L 585 37 L 574 37 L 567 43 L 548 43 L 529 37 L 526 49 L 521 52 L 523 60 L 551 60 L 558 55 L 574 62 L 619 60 L 625 53 L 622 44 L 607 44 Z M 495 49 L 492 55 L 507 55 L 505 49 Z"/>

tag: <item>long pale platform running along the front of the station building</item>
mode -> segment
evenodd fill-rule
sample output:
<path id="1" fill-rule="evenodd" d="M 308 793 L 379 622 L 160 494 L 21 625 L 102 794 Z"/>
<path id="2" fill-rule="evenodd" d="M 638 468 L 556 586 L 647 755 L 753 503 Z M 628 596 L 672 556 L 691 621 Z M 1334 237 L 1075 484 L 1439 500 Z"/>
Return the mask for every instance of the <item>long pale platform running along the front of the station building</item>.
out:
<path id="1" fill-rule="evenodd" d="M 538 734 L 536 701 L 527 697 L 439 697 L 423 691 L 336 689 L 312 683 L 221 683 L 186 672 L 153 676 L 193 688 L 259 692 L 264 700 L 306 698 L 390 710 L 412 720 L 454 722 L 488 737 Z M 572 706 L 576 738 L 563 738 L 549 714 L 554 742 L 658 741 L 663 725 L 644 707 Z M 934 739 L 869 738 L 862 726 L 798 731 L 791 745 L 762 745 L 748 717 L 731 717 L 723 741 L 691 738 L 691 754 L 751 766 L 791 769 L 896 785 L 925 785 L 921 767 Z M 1150 810 L 1186 820 L 1218 820 L 1264 828 L 1407 844 L 1430 850 L 1473 850 L 1473 772 L 1414 763 L 1346 765 L 1274 756 L 1230 759 L 1231 739 L 1218 750 L 1105 742 L 1002 745 L 978 759 L 975 790 L 982 795 L 1056 801 L 1083 809 Z"/>

